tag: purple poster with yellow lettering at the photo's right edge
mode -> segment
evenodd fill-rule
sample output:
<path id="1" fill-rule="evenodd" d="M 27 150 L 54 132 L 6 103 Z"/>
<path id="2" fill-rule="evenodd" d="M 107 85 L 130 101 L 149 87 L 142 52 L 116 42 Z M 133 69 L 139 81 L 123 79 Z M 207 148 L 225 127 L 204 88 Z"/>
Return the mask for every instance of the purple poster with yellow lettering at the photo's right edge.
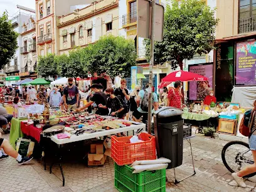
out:
<path id="1" fill-rule="evenodd" d="M 256 85 L 256 41 L 237 43 L 236 85 Z"/>

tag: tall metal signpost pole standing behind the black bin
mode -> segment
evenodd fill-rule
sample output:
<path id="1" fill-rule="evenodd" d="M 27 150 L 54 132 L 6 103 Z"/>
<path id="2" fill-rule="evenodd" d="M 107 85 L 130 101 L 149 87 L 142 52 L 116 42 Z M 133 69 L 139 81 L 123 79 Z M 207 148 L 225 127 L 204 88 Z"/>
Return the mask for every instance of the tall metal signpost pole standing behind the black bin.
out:
<path id="1" fill-rule="evenodd" d="M 151 120 L 152 120 L 152 79 L 153 79 L 153 66 L 154 66 L 154 25 L 155 25 L 155 9 L 156 0 L 151 1 L 151 51 L 150 51 L 150 62 L 149 62 L 149 111 L 147 117 L 147 132 L 151 134 Z"/>

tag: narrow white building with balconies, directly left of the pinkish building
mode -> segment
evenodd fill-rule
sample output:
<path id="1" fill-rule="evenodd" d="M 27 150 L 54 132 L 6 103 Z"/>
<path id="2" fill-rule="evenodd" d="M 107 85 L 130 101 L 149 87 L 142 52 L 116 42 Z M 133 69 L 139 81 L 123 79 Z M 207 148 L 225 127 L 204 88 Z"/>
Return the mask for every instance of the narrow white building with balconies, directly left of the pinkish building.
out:
<path id="1" fill-rule="evenodd" d="M 23 58 L 19 77 L 21 80 L 25 78 L 36 78 L 36 22 L 32 16 L 23 24 L 21 39 L 23 45 L 20 47 L 20 53 Z"/>

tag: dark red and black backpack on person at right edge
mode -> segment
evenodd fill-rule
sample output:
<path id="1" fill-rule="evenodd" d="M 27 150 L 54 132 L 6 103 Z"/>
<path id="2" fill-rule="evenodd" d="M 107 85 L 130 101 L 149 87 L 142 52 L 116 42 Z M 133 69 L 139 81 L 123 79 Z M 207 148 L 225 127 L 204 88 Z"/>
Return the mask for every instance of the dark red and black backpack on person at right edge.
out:
<path id="1" fill-rule="evenodd" d="M 255 110 L 247 110 L 243 115 L 243 119 L 240 122 L 239 132 L 245 136 L 250 137 L 253 133 L 251 132 L 252 124 L 255 118 Z"/>

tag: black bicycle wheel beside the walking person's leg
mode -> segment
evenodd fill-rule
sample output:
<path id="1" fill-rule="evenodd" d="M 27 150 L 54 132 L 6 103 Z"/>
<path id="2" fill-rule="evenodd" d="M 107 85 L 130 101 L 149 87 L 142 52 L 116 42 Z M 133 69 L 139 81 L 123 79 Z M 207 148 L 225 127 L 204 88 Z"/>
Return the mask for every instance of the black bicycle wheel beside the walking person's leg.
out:
<path id="1" fill-rule="evenodd" d="M 230 141 L 222 149 L 221 159 L 225 167 L 231 173 L 238 172 L 246 166 L 253 164 L 252 151 L 246 142 Z M 255 176 L 256 173 L 248 174 L 244 178 Z"/>

